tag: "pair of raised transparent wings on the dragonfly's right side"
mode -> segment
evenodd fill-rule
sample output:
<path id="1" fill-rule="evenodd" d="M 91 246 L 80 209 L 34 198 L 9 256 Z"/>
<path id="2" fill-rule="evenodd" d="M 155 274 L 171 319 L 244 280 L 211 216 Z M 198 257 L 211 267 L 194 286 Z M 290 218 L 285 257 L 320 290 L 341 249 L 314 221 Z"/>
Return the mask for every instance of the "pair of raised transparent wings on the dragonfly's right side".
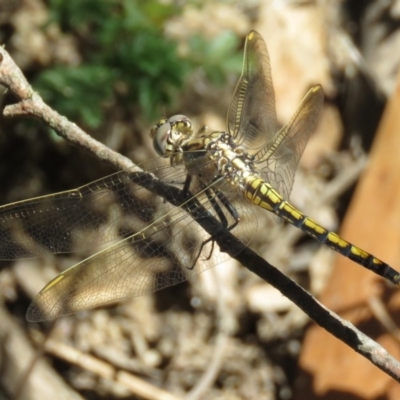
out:
<path id="1" fill-rule="evenodd" d="M 320 114 L 321 86 L 313 87 L 296 113 L 277 131 L 275 95 L 268 51 L 263 38 L 251 31 L 246 39 L 242 75 L 228 110 L 228 129 L 258 163 L 262 175 L 289 200 L 299 159 Z"/>

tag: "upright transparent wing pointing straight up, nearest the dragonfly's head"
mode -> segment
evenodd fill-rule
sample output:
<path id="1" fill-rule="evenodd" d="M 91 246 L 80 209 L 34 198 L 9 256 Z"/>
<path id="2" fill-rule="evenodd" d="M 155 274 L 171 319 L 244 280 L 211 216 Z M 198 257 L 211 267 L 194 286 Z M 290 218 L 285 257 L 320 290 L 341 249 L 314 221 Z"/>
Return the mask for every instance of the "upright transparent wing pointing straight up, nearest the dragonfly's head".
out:
<path id="1" fill-rule="evenodd" d="M 268 51 L 256 31 L 247 35 L 242 75 L 229 105 L 227 125 L 236 142 L 250 152 L 271 143 L 277 131 Z"/>

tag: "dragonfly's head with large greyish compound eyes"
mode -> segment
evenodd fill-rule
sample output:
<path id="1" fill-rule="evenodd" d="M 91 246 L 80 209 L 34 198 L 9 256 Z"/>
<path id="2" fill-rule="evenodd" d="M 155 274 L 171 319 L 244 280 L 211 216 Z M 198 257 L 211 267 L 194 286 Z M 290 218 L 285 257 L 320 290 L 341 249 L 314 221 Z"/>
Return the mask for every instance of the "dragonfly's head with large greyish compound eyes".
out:
<path id="1" fill-rule="evenodd" d="M 179 151 L 182 139 L 186 139 L 192 133 L 192 122 L 185 115 L 162 118 L 150 131 L 153 147 L 157 154 L 163 157 Z"/>

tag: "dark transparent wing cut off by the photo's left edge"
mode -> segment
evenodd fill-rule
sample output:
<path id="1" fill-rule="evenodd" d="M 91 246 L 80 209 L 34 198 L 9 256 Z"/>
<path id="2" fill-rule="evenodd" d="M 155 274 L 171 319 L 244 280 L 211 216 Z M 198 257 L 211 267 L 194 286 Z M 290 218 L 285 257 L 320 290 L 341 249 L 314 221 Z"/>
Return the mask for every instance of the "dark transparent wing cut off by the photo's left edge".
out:
<path id="1" fill-rule="evenodd" d="M 185 180 L 183 167 L 155 163 L 144 167 L 166 182 Z M 121 171 L 78 189 L 0 207 L 0 259 L 93 252 L 144 228 L 164 205 L 133 182 L 134 174 Z"/>

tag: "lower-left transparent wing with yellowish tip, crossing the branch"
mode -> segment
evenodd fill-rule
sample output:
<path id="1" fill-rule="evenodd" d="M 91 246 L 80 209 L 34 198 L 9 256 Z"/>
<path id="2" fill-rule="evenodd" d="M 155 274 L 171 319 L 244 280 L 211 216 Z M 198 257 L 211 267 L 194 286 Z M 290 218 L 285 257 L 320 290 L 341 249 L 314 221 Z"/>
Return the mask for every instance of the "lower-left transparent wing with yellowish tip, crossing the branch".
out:
<path id="1" fill-rule="evenodd" d="M 212 242 L 207 240 L 209 234 L 195 223 L 184 207 L 180 207 L 179 204 L 171 205 L 162 197 L 145 189 L 151 186 L 150 181 L 154 179 L 149 177 L 146 182 L 145 176 L 149 175 L 132 174 L 129 180 L 140 182 L 144 186 L 142 190 L 151 193 L 153 201 L 158 201 L 161 205 L 156 207 L 158 211 L 152 215 L 152 222 L 54 278 L 32 302 L 27 314 L 28 320 L 53 319 L 79 310 L 152 293 L 185 281 L 191 275 L 229 258 L 228 255 L 214 249 Z M 229 183 L 222 183 L 218 189 L 223 190 L 224 185 L 231 186 Z M 200 189 L 194 191 L 198 186 Z M 210 195 L 213 194 L 211 186 L 212 183 L 206 193 L 199 182 L 192 182 L 190 190 L 196 195 L 192 198 L 195 202 L 190 204 L 191 212 L 202 207 L 208 215 L 218 218 L 219 221 L 226 220 L 228 226 L 232 225 L 234 220 L 229 209 L 221 204 L 220 208 L 216 208 L 217 197 L 210 200 Z M 175 196 L 176 190 L 165 190 L 171 190 L 170 193 Z M 181 191 L 180 193 L 182 195 Z M 246 207 L 247 204 L 244 208 L 241 207 L 242 197 L 237 196 L 236 192 L 226 195 L 225 198 L 232 201 L 232 204 L 235 199 L 239 201 L 236 210 L 247 223 L 243 224 L 243 228 L 242 224 L 239 224 L 235 233 L 248 242 L 254 235 L 256 224 L 255 220 L 249 217 L 252 209 Z M 189 200 L 182 200 L 181 205 L 187 201 Z M 222 218 L 221 213 L 224 214 Z M 196 218 L 203 218 L 203 215 L 200 213 Z"/>

